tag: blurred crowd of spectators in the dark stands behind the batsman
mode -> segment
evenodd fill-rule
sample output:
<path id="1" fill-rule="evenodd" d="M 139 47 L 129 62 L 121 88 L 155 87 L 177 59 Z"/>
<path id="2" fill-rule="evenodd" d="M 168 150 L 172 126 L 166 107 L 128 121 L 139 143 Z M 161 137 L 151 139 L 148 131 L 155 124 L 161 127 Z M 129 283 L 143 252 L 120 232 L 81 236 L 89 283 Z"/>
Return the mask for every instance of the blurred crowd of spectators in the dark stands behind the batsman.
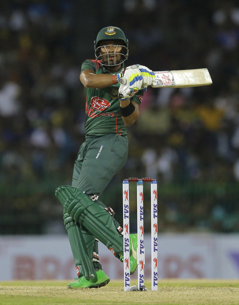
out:
<path id="1" fill-rule="evenodd" d="M 127 65 L 206 67 L 213 84 L 147 89 L 140 117 L 128 128 L 127 164 L 102 201 L 120 221 L 122 179 L 157 178 L 159 231 L 239 231 L 238 1 L 9 0 L 0 6 L 2 234 L 64 231 L 54 190 L 71 184 L 84 142 L 80 67 L 94 59 L 94 40 L 105 26 L 120 27 L 129 39 Z"/>

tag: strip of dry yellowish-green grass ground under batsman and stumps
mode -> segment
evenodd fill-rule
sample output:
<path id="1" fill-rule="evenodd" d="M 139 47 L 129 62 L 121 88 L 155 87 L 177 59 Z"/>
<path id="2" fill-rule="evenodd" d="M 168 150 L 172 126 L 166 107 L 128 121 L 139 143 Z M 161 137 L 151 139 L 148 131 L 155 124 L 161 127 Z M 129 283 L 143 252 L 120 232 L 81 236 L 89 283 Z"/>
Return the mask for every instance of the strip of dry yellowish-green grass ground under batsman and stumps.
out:
<path id="1" fill-rule="evenodd" d="M 68 282 L 0 282 L 0 305 L 239 305 L 239 280 L 161 279 L 158 291 L 143 292 L 124 292 L 123 281 L 98 289 L 67 289 Z"/>

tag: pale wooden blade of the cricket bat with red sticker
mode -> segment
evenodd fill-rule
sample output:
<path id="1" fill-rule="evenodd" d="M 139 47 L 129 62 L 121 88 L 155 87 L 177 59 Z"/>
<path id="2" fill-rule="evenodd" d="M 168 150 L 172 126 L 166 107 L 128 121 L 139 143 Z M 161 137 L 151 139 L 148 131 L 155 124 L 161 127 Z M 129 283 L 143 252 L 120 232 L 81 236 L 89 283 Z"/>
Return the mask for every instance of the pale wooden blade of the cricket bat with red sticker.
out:
<path id="1" fill-rule="evenodd" d="M 212 84 L 208 69 L 176 70 L 176 71 L 155 71 L 153 88 L 162 87 L 197 87 Z"/>

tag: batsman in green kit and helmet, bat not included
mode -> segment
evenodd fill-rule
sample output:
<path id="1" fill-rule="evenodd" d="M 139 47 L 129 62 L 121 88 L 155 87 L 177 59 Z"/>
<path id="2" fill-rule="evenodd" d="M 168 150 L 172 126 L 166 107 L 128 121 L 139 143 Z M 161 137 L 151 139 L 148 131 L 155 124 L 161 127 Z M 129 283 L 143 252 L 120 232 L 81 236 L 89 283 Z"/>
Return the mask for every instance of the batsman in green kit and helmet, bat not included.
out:
<path id="1" fill-rule="evenodd" d="M 145 66 L 125 68 L 128 40 L 118 27 L 105 27 L 95 40 L 95 58 L 81 66 L 85 87 L 85 142 L 80 146 L 72 186 L 55 195 L 64 209 L 64 224 L 77 271 L 68 288 L 98 288 L 109 283 L 99 262 L 98 241 L 123 262 L 123 229 L 114 211 L 98 200 L 112 177 L 126 163 L 127 126 L 139 117 L 147 86 L 155 77 Z M 130 274 L 137 268 L 137 235 L 130 234 Z"/>

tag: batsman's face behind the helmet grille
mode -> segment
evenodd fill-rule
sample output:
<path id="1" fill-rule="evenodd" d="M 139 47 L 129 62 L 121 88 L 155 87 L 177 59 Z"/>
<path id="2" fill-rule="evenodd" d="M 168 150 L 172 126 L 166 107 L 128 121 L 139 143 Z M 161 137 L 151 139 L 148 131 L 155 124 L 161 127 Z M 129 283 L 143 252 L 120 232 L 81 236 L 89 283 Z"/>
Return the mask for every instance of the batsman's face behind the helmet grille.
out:
<path id="1" fill-rule="evenodd" d="M 109 66 L 115 66 L 121 63 L 121 54 L 123 47 L 116 45 L 115 41 L 106 41 L 100 47 L 102 61 Z M 120 54 L 121 53 L 121 54 Z"/>

